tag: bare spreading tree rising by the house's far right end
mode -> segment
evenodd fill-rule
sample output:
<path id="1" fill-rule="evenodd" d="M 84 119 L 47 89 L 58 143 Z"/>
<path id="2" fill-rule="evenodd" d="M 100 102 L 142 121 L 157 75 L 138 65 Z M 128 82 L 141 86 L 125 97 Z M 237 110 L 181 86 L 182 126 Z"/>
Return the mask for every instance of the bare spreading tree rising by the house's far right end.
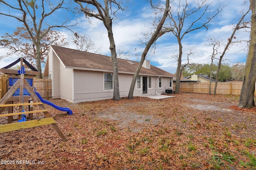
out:
<path id="1" fill-rule="evenodd" d="M 174 1 L 177 2 L 177 1 Z M 223 7 L 218 7 L 216 12 L 212 16 L 207 16 L 208 11 L 212 3 L 209 3 L 209 0 L 185 0 L 182 4 L 182 0 L 178 0 L 178 6 L 175 8 L 175 5 L 172 6 L 168 20 L 168 26 L 166 28 L 173 28 L 171 31 L 173 35 L 177 38 L 179 44 L 179 57 L 178 57 L 178 66 L 176 71 L 176 88 L 175 93 L 180 92 L 180 77 L 182 72 L 180 71 L 182 63 L 182 39 L 188 33 L 210 26 L 212 20 L 222 11 Z M 196 6 L 196 7 L 193 7 Z M 175 8 L 175 9 L 174 9 Z M 186 27 L 185 27 L 186 25 Z"/>

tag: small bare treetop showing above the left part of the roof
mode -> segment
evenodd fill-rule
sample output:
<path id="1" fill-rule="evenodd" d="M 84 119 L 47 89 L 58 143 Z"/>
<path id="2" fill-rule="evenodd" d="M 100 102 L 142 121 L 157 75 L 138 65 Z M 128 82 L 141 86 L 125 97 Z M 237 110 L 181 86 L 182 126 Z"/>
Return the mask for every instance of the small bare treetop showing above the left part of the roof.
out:
<path id="1" fill-rule="evenodd" d="M 90 37 L 87 37 L 86 35 L 74 33 L 71 42 L 76 44 L 76 49 L 79 51 L 100 53 L 101 47 L 96 48 L 94 41 L 92 41 L 92 39 L 90 39 Z"/>

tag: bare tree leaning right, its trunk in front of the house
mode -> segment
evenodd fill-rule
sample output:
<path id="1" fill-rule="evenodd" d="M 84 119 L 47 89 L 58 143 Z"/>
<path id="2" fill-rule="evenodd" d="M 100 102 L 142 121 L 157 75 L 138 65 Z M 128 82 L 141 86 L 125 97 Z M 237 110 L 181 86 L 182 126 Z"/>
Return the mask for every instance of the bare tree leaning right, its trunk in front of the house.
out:
<path id="1" fill-rule="evenodd" d="M 151 1 L 150 1 L 151 2 Z M 151 2 L 152 4 L 152 2 Z M 153 6 L 152 6 L 153 7 Z M 130 90 L 129 90 L 129 94 L 128 94 L 128 99 L 132 99 L 133 98 L 133 92 L 134 92 L 134 87 L 136 84 L 136 80 L 138 78 L 140 69 L 142 67 L 142 64 L 144 63 L 145 59 L 146 59 L 146 55 L 150 49 L 150 47 L 152 46 L 152 44 L 163 34 L 162 30 L 162 26 L 164 24 L 164 21 L 167 18 L 168 15 L 168 11 L 170 9 L 170 0 L 166 0 L 166 4 L 165 4 L 165 9 L 164 9 L 164 14 L 162 16 L 162 19 L 160 20 L 160 22 L 158 23 L 158 26 L 156 27 L 156 30 L 154 31 L 152 37 L 150 38 L 150 40 L 146 43 L 146 47 L 141 55 L 141 59 L 140 59 L 140 63 L 138 65 L 138 67 L 136 68 L 136 71 L 134 73 L 134 76 L 132 78 L 132 83 L 130 86 Z"/>

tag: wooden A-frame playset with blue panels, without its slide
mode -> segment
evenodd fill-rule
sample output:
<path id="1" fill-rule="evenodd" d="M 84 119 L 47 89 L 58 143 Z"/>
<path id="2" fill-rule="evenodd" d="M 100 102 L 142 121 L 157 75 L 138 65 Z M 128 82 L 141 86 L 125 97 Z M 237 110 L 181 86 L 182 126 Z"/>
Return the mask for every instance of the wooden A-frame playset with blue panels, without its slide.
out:
<path id="1" fill-rule="evenodd" d="M 20 62 L 20 70 L 8 69 L 18 62 Z M 24 64 L 26 64 L 32 71 L 25 71 Z M 50 113 L 48 113 L 48 110 L 44 107 L 43 103 L 34 92 L 32 86 L 33 78 L 39 74 L 38 70 L 25 59 L 20 58 L 14 63 L 1 68 L 0 71 L 4 74 L 8 74 L 8 92 L 0 100 L 0 117 L 8 117 L 8 123 L 0 125 L 0 133 L 52 124 L 61 139 L 67 141 Z M 35 105 L 40 109 L 34 110 L 33 106 Z M 13 107 L 18 107 L 18 112 L 14 113 Z M 8 109 L 8 113 L 2 114 L 6 108 Z M 44 113 L 46 118 L 34 119 L 34 113 Z M 18 119 L 13 119 L 13 116 L 15 115 L 18 115 Z M 12 123 L 17 120 L 18 122 Z"/>

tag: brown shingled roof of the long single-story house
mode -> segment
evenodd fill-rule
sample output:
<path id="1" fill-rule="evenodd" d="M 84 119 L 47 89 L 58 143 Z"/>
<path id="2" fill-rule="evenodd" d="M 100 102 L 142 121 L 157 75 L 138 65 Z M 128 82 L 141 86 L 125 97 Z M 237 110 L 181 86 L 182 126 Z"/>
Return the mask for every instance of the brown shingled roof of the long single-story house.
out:
<path id="1" fill-rule="evenodd" d="M 78 51 L 74 49 L 68 49 L 64 47 L 50 46 L 57 57 L 60 59 L 62 64 L 66 68 L 73 68 L 78 70 L 94 70 L 94 71 L 109 71 L 112 72 L 112 60 L 110 57 L 105 55 L 99 55 L 94 53 L 88 53 L 84 51 Z M 139 62 L 130 61 L 125 59 L 117 59 L 118 61 L 118 72 L 119 73 L 130 73 L 134 74 Z M 48 62 L 48 61 L 47 61 Z M 46 63 L 47 66 L 47 63 Z M 48 74 L 45 71 L 44 74 Z M 174 74 L 166 72 L 156 66 L 150 65 L 150 69 L 142 67 L 140 74 L 156 75 L 156 76 L 167 76 L 174 77 Z M 48 76 L 48 75 L 45 75 Z"/>

